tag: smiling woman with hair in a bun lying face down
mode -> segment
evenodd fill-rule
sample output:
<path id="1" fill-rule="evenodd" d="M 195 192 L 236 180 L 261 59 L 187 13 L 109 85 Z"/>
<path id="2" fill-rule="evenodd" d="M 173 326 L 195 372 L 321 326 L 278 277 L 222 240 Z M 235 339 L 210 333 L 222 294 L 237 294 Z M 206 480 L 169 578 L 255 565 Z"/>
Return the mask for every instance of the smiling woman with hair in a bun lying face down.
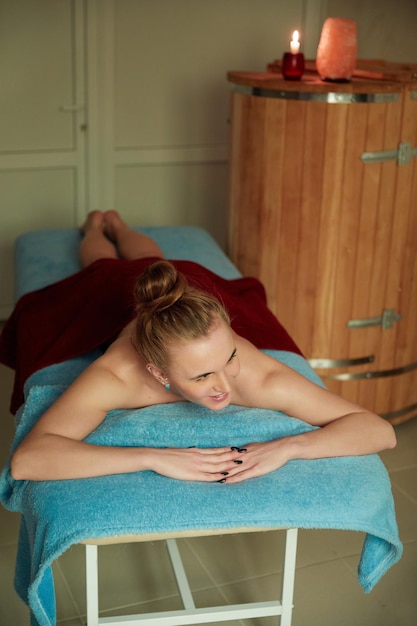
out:
<path id="1" fill-rule="evenodd" d="M 272 472 L 291 459 L 372 454 L 395 446 L 388 422 L 308 381 L 235 332 L 219 300 L 187 283 L 172 263 L 162 260 L 159 247 L 129 229 L 115 211 L 90 213 L 83 233 L 83 267 L 102 258 L 151 259 L 135 285 L 136 315 L 17 448 L 11 463 L 15 479 L 153 470 L 179 480 L 236 483 Z M 184 400 L 213 411 L 231 403 L 279 410 L 321 428 L 248 442 L 243 449 L 120 448 L 83 442 L 112 409 Z"/>

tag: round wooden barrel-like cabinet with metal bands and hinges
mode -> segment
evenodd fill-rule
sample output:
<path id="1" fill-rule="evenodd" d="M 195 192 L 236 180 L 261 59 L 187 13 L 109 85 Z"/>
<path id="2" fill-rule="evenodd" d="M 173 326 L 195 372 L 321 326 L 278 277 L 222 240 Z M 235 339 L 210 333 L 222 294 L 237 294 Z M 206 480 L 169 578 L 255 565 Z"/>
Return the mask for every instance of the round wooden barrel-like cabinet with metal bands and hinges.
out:
<path id="1" fill-rule="evenodd" d="M 327 386 L 399 423 L 417 415 L 417 75 L 395 69 L 229 73 L 229 252 Z"/>

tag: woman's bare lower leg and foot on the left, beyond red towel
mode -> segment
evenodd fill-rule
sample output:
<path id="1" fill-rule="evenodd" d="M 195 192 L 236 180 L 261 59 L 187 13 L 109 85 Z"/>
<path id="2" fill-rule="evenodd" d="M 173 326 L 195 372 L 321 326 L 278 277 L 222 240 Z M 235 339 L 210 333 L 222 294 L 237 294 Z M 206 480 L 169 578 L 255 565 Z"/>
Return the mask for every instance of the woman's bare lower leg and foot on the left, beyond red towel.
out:
<path id="1" fill-rule="evenodd" d="M 97 259 L 117 259 L 116 247 L 104 233 L 104 214 L 101 211 L 92 211 L 88 214 L 81 232 L 84 235 L 79 250 L 82 267 L 94 263 Z"/>

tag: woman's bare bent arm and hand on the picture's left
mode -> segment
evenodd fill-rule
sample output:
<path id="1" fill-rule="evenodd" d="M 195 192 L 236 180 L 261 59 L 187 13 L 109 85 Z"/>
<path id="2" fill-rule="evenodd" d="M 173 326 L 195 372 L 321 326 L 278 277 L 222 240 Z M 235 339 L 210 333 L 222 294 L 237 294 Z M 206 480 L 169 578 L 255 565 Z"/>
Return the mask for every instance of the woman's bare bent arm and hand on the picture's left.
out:
<path id="1" fill-rule="evenodd" d="M 129 407 L 126 383 L 90 366 L 45 412 L 11 460 L 16 480 L 61 480 L 154 470 L 181 480 L 215 481 L 238 455 L 222 449 L 97 446 L 82 440 L 111 409 Z"/>

